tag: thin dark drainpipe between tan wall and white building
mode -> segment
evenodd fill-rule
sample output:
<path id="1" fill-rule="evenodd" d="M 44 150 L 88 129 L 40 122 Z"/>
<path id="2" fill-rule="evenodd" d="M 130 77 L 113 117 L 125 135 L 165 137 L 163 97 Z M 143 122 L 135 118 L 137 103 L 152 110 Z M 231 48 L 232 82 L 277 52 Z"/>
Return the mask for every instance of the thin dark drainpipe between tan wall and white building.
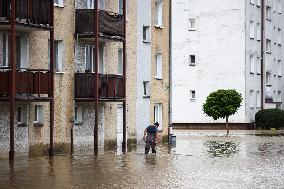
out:
<path id="1" fill-rule="evenodd" d="M 172 127 L 172 0 L 169 8 L 169 127 Z M 168 135 L 171 131 L 169 128 Z"/>

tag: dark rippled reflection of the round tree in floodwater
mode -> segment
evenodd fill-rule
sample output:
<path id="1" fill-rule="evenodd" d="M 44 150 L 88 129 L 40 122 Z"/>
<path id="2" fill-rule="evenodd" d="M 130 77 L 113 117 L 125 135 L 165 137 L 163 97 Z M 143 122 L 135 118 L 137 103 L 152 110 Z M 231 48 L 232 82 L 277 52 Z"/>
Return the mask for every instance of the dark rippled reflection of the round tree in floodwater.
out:
<path id="1" fill-rule="evenodd" d="M 239 143 L 232 141 L 206 141 L 204 146 L 210 157 L 231 157 L 239 153 Z"/>

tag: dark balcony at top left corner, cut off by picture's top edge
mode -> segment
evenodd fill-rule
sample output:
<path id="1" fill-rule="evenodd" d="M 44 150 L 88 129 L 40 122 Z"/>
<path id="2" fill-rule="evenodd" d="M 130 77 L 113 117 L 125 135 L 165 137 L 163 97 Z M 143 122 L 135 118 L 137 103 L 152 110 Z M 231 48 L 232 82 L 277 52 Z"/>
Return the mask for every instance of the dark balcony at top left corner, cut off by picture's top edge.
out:
<path id="1" fill-rule="evenodd" d="M 15 0 L 16 29 L 51 28 L 50 0 Z M 11 0 L 0 0 L 0 27 L 7 28 L 11 21 Z"/>

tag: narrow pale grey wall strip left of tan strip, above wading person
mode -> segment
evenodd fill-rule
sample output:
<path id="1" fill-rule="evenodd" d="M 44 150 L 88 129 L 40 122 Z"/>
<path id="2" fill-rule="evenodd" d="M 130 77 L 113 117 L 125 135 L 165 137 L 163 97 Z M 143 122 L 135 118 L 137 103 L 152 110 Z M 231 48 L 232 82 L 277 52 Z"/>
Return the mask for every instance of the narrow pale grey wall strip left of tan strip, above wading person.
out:
<path id="1" fill-rule="evenodd" d="M 151 46 L 153 40 L 148 43 L 143 41 L 143 26 L 149 26 L 150 36 L 152 28 L 151 0 L 137 1 L 137 101 L 136 101 L 136 132 L 137 140 L 141 141 L 144 130 L 150 122 L 150 98 L 144 96 L 144 81 L 151 81 Z M 149 83 L 151 85 L 151 83 Z M 150 89 L 149 89 L 150 90 Z M 151 91 L 150 91 L 151 95 Z"/>

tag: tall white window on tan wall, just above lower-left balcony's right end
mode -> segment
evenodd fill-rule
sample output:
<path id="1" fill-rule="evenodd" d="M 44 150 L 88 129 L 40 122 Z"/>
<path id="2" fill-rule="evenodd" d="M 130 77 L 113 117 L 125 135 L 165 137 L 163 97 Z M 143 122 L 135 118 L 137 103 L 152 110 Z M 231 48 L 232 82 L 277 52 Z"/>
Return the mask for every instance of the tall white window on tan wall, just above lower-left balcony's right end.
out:
<path id="1" fill-rule="evenodd" d="M 50 67 L 50 41 L 48 41 L 48 65 Z M 54 40 L 54 71 L 63 72 L 63 41 Z"/>

